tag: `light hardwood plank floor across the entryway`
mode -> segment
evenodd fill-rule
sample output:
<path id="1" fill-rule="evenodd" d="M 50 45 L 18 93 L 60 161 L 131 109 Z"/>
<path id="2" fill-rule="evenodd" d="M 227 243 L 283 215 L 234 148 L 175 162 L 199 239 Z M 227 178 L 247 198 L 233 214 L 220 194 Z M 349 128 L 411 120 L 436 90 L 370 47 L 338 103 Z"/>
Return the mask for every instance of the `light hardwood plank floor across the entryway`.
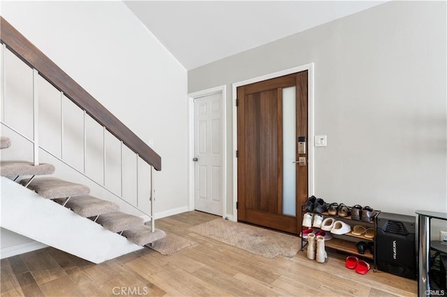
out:
<path id="1" fill-rule="evenodd" d="M 266 259 L 188 231 L 214 215 L 193 211 L 156 221 L 196 243 L 163 256 L 145 248 L 102 264 L 44 248 L 1 260 L 1 296 L 416 296 L 417 283 L 369 271 L 359 275 L 329 254 Z"/>

